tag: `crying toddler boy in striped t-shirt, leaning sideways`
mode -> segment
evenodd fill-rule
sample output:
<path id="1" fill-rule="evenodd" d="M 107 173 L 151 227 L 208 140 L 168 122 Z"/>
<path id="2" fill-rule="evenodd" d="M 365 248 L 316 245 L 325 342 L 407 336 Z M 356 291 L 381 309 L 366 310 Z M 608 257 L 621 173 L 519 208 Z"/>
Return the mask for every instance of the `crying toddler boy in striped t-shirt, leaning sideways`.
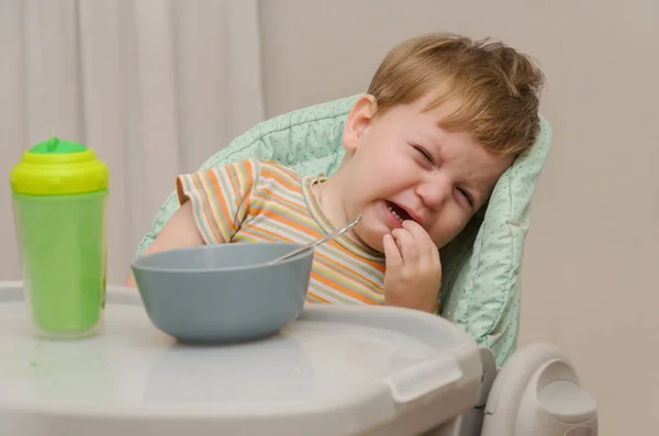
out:
<path id="1" fill-rule="evenodd" d="M 501 43 L 432 34 L 394 47 L 343 132 L 330 178 L 247 159 L 180 176 L 181 208 L 145 254 L 202 244 L 315 248 L 308 301 L 438 311 L 449 243 L 535 142 L 543 74 Z M 133 279 L 129 279 L 133 284 Z"/>

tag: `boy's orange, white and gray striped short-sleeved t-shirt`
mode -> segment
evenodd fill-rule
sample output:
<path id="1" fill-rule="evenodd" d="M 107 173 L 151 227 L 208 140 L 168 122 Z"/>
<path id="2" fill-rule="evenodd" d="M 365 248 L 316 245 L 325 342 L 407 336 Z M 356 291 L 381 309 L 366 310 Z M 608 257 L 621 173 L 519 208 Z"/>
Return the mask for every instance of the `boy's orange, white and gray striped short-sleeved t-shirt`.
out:
<path id="1" fill-rule="evenodd" d="M 179 176 L 182 204 L 191 201 L 206 244 L 305 244 L 335 230 L 312 192 L 317 178 L 273 161 L 246 159 Z M 349 234 L 315 248 L 308 302 L 382 304 L 383 256 Z"/>

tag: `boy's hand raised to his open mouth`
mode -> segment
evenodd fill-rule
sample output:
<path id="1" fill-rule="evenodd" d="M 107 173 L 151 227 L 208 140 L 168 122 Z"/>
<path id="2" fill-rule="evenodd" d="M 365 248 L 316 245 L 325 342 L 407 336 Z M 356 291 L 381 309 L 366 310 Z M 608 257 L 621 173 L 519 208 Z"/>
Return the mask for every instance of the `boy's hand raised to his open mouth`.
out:
<path id="1" fill-rule="evenodd" d="M 414 221 L 384 236 L 384 304 L 433 312 L 442 283 L 439 250 Z"/>

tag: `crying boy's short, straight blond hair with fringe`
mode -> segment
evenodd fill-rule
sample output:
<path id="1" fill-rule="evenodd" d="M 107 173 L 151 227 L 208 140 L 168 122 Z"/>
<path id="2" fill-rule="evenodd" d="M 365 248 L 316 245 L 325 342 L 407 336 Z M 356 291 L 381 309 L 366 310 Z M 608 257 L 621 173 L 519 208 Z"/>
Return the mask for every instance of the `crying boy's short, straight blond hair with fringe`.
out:
<path id="1" fill-rule="evenodd" d="M 376 71 L 368 93 L 387 110 L 433 92 L 427 108 L 451 101 L 457 110 L 440 121 L 503 154 L 530 147 L 539 131 L 541 71 L 511 47 L 490 40 L 429 34 L 395 46 Z"/>

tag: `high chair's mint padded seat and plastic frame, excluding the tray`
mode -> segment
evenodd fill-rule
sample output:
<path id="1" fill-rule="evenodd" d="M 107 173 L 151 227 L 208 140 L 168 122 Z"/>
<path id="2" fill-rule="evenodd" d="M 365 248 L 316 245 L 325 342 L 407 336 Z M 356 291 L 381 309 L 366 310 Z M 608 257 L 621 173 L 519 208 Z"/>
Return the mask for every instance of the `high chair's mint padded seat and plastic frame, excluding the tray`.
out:
<path id="1" fill-rule="evenodd" d="M 270 159 L 303 175 L 331 176 L 344 157 L 342 133 L 358 96 L 267 120 L 211 156 L 201 169 L 248 157 Z M 428 435 L 594 436 L 597 414 L 577 371 L 556 347 L 517 347 L 521 269 L 536 181 L 551 143 L 540 116 L 535 145 L 520 155 L 465 231 L 442 250 L 442 316 L 480 346 L 481 398 L 473 409 Z M 171 192 L 141 242 L 142 254 L 177 210 Z"/>

